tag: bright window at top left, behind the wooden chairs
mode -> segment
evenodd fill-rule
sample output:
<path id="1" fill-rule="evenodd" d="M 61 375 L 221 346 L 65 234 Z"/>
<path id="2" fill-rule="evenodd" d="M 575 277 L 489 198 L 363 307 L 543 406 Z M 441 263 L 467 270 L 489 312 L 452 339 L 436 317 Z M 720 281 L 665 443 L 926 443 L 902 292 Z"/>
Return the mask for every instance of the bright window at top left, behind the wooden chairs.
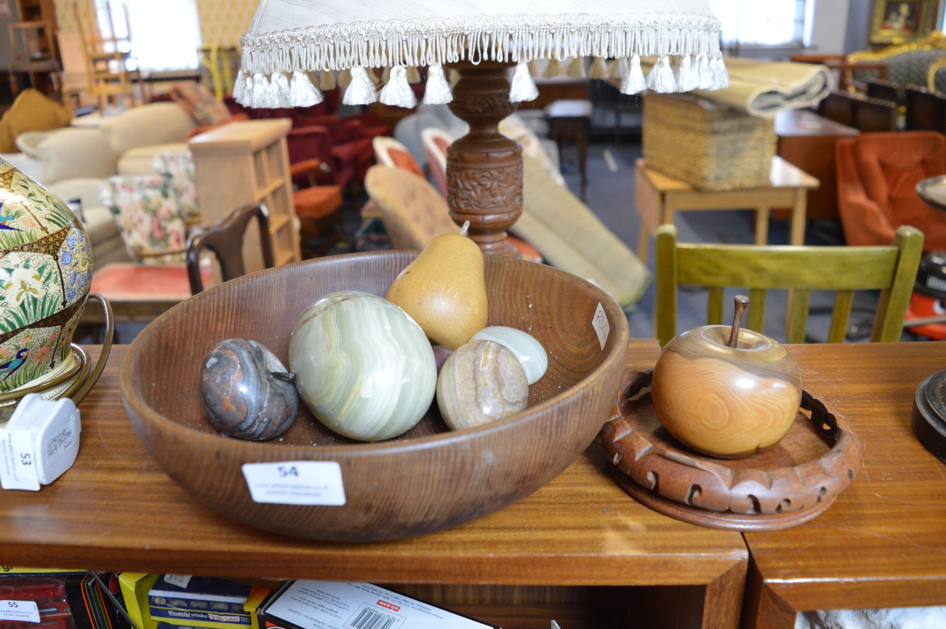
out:
<path id="1" fill-rule="evenodd" d="M 131 56 L 142 70 L 198 67 L 201 27 L 195 0 L 115 0 L 96 5 L 96 9 L 104 37 L 113 35 L 113 25 L 116 37 L 127 37 L 131 32 Z"/>

